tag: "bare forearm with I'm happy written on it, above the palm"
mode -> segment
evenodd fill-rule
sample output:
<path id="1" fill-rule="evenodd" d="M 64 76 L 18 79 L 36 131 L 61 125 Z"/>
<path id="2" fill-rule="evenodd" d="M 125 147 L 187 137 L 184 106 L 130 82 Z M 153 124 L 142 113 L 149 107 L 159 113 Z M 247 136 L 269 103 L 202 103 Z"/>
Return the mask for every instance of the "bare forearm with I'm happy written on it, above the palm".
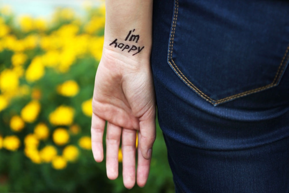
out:
<path id="1" fill-rule="evenodd" d="M 149 60 L 152 0 L 106 0 L 104 52 Z"/>

